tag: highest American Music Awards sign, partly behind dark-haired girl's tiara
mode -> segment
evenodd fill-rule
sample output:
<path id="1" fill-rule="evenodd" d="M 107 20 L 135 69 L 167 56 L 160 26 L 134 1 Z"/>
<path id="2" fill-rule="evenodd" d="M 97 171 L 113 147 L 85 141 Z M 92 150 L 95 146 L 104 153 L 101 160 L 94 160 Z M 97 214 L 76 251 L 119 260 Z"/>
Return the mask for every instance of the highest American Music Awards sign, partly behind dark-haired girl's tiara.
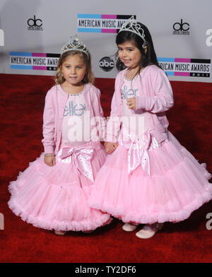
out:
<path id="1" fill-rule="evenodd" d="M 78 32 L 83 33 L 118 33 L 126 19 L 131 16 L 110 14 L 82 14 L 77 15 Z M 136 16 L 134 16 L 136 19 Z"/>

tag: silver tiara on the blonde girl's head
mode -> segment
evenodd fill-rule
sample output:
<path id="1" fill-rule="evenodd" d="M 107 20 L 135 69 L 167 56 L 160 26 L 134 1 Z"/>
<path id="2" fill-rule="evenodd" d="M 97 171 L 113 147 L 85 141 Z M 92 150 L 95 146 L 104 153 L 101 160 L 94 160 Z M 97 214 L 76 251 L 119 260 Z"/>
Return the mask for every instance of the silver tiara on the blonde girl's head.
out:
<path id="1" fill-rule="evenodd" d="M 69 42 L 61 48 L 60 54 L 64 54 L 68 51 L 80 51 L 86 53 L 89 57 L 89 52 L 86 49 L 86 45 L 83 45 L 83 41 L 77 35 L 69 38 Z"/>

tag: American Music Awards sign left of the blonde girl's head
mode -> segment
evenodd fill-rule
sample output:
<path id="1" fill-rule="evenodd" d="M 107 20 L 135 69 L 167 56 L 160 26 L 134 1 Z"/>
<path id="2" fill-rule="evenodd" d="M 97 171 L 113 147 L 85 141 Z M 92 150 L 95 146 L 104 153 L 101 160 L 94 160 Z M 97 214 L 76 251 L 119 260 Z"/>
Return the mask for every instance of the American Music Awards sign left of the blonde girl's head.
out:
<path id="1" fill-rule="evenodd" d="M 60 54 L 10 52 L 11 69 L 57 70 Z"/>

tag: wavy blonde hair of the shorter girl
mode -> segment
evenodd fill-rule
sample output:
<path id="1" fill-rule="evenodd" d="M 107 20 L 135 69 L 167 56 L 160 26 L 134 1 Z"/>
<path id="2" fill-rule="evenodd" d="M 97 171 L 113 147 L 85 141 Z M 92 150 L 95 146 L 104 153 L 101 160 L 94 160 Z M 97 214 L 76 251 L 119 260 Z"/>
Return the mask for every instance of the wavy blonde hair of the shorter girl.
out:
<path id="1" fill-rule="evenodd" d="M 56 85 L 61 85 L 62 83 L 64 83 L 64 81 L 66 81 L 66 79 L 64 78 L 62 72 L 61 72 L 61 66 L 64 63 L 64 61 L 66 60 L 67 57 L 73 56 L 78 54 L 83 61 L 86 64 L 86 69 L 87 69 L 87 73 L 85 75 L 85 77 L 83 78 L 83 83 L 93 83 L 94 82 L 94 75 L 91 69 L 91 57 L 90 57 L 90 53 L 88 54 L 88 56 L 86 55 L 86 53 L 81 52 L 81 51 L 77 51 L 77 50 L 71 50 L 68 52 L 64 52 L 64 54 L 61 55 L 61 57 L 59 58 L 59 61 L 57 62 L 57 72 L 54 76 L 54 81 L 56 83 Z"/>

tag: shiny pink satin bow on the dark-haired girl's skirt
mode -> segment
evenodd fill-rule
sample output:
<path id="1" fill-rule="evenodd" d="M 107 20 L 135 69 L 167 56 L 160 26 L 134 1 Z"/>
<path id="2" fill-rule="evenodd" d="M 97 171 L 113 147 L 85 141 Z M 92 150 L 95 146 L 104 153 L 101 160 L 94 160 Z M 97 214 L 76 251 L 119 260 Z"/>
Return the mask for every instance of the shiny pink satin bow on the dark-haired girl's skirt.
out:
<path id="1" fill-rule="evenodd" d="M 151 134 L 144 134 L 143 139 L 132 139 L 129 146 L 125 145 L 128 151 L 128 174 L 141 165 L 144 172 L 151 176 L 150 172 L 150 159 L 148 155 L 148 148 L 150 147 Z"/>

